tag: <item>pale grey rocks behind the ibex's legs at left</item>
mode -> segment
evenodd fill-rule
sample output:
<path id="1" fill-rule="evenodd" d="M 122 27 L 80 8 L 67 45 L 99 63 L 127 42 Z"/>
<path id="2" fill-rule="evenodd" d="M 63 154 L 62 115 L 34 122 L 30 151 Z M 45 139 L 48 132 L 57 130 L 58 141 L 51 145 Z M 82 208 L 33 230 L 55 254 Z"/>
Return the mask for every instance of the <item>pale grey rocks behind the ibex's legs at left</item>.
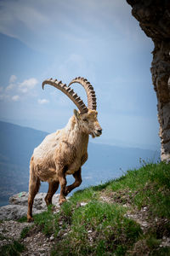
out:
<path id="1" fill-rule="evenodd" d="M 33 214 L 47 210 L 44 198 L 46 193 L 38 193 L 34 199 Z M 0 220 L 19 219 L 27 214 L 28 193 L 20 192 L 9 198 L 9 205 L 0 207 Z M 53 204 L 59 207 L 59 194 L 53 196 Z"/>

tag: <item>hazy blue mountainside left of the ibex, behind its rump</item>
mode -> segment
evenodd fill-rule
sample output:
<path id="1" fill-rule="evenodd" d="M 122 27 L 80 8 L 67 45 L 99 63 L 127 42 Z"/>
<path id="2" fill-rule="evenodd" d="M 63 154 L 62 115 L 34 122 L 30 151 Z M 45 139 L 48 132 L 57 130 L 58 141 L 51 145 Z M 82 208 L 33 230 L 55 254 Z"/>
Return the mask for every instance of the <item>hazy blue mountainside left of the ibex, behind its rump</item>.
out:
<path id="1" fill-rule="evenodd" d="M 28 190 L 33 149 L 48 133 L 0 121 L 0 205 L 21 190 Z"/>

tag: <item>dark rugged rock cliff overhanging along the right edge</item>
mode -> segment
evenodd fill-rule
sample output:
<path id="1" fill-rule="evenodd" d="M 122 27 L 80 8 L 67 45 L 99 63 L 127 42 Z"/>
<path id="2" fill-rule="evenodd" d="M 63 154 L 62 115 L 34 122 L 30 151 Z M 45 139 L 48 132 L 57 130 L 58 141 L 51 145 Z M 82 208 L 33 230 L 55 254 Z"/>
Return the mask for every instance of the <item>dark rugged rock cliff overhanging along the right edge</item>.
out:
<path id="1" fill-rule="evenodd" d="M 151 74 L 157 96 L 161 160 L 170 161 L 170 1 L 127 0 L 133 16 L 154 44 Z"/>

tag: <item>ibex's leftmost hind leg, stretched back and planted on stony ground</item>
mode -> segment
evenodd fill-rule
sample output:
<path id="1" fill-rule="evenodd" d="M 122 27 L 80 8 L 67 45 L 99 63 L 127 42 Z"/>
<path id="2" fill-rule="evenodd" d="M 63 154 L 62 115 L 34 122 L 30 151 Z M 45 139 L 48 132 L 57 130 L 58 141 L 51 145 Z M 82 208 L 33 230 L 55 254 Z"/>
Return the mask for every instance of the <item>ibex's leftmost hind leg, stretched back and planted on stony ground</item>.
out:
<path id="1" fill-rule="evenodd" d="M 28 212 L 27 212 L 27 221 L 31 222 L 34 219 L 32 218 L 32 205 L 34 202 L 34 197 L 37 195 L 37 192 L 40 187 L 40 179 L 35 177 L 33 173 L 30 174 L 30 183 L 29 183 L 29 197 L 28 197 Z"/>

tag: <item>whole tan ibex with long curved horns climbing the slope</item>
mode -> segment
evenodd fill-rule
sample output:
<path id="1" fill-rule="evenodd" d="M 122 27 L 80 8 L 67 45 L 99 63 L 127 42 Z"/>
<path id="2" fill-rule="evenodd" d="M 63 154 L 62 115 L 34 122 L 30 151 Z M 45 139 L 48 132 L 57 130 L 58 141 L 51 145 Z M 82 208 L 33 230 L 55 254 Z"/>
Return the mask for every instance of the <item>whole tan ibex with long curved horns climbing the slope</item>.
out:
<path id="1" fill-rule="evenodd" d="M 88 96 L 88 108 L 69 87 L 73 83 L 82 84 Z M 47 206 L 52 203 L 52 197 L 60 185 L 59 204 L 65 201 L 65 196 L 82 183 L 81 167 L 88 160 L 88 137 L 99 137 L 102 129 L 99 125 L 96 111 L 96 96 L 93 86 L 87 79 L 78 77 L 69 86 L 57 79 L 47 79 L 42 83 L 53 85 L 61 90 L 74 102 L 79 109 L 69 119 L 64 129 L 49 134 L 42 143 L 34 149 L 30 163 L 30 182 L 28 198 L 28 222 L 33 221 L 32 205 L 37 195 L 40 182 L 48 182 L 48 193 L 45 197 Z M 75 182 L 66 186 L 66 175 L 73 175 Z"/>

